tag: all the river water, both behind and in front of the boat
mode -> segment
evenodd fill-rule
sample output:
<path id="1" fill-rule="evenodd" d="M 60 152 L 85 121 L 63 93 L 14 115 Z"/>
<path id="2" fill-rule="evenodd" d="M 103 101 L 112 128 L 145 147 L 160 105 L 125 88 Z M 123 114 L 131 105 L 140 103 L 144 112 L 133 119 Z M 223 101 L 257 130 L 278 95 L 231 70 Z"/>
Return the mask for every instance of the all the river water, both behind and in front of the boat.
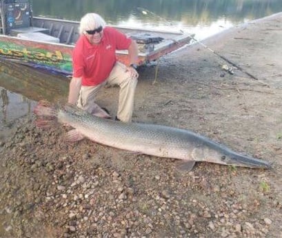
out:
<path id="1" fill-rule="evenodd" d="M 174 28 L 193 33 L 198 40 L 282 11 L 281 0 L 40 0 L 32 5 L 35 16 L 79 21 L 83 14 L 97 12 L 112 25 Z M 0 92 L 3 132 L 15 120 L 30 117 L 39 99 L 66 99 L 68 81 L 0 61 Z"/>

